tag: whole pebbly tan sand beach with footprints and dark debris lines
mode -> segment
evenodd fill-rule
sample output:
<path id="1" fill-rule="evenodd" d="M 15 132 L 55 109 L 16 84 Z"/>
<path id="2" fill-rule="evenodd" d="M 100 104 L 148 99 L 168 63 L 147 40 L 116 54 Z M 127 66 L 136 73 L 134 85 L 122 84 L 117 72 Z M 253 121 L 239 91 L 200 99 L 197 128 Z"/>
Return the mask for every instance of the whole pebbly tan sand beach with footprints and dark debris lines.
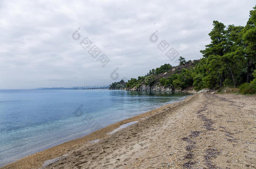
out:
<path id="1" fill-rule="evenodd" d="M 256 96 L 194 94 L 3 168 L 255 168 L 255 103 Z"/>

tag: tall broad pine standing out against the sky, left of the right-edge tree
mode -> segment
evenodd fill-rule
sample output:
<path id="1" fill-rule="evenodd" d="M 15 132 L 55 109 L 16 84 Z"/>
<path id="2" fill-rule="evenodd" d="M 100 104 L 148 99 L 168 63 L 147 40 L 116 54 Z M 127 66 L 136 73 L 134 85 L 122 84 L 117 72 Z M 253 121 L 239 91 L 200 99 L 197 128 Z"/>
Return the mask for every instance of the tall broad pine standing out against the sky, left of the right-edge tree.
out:
<path id="1" fill-rule="evenodd" d="M 207 63 L 209 63 L 207 66 L 209 71 L 206 73 L 208 86 L 214 86 L 215 84 L 211 83 L 213 81 L 219 81 L 219 86 L 222 86 L 225 78 L 229 77 L 227 70 L 230 72 L 234 86 L 236 86 L 235 69 L 238 68 L 237 65 L 240 63 L 240 56 L 234 51 L 236 44 L 233 34 L 236 33 L 235 31 L 240 31 L 241 29 L 234 25 L 229 25 L 226 29 L 223 23 L 216 20 L 213 21 L 213 25 L 214 28 L 209 33 L 212 41 L 209 45 L 206 45 L 205 50 L 200 51 L 207 58 Z"/>

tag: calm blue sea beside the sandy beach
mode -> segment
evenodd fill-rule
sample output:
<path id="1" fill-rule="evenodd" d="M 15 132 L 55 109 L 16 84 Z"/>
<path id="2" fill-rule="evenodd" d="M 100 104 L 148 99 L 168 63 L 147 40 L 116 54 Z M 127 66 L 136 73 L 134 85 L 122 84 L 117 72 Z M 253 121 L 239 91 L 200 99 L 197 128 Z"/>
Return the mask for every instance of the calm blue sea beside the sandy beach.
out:
<path id="1" fill-rule="evenodd" d="M 0 166 L 187 96 L 103 89 L 0 90 Z"/>

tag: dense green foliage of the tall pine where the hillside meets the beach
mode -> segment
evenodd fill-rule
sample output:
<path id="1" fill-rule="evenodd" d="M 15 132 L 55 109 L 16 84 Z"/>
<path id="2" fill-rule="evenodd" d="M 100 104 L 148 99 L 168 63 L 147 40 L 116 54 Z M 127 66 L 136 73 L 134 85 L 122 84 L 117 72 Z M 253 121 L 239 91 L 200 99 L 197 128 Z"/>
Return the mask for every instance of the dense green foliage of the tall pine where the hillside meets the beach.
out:
<path id="1" fill-rule="evenodd" d="M 214 28 L 209 33 L 211 43 L 201 53 L 206 58 L 206 87 L 222 87 L 226 78 L 230 78 L 233 86 L 237 86 L 238 75 L 243 70 L 244 58 L 241 48 L 241 26 L 229 25 L 213 21 Z"/>

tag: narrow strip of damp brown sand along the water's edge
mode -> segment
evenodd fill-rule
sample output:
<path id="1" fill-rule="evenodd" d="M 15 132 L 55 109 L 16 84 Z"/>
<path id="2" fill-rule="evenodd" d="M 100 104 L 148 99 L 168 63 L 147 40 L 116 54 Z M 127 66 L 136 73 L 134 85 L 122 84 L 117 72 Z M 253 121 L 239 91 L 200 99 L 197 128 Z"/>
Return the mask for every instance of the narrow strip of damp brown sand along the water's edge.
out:
<path id="1" fill-rule="evenodd" d="M 193 93 L 190 93 L 193 94 Z M 102 129 L 99 129 L 97 131 L 92 132 L 91 134 L 88 134 L 86 136 L 80 137 L 78 139 L 73 139 L 71 141 L 67 141 L 65 143 L 59 144 L 57 146 L 53 146 L 49 149 L 45 149 L 43 151 L 39 151 L 35 154 L 31 154 L 29 156 L 26 156 L 22 159 L 19 159 L 17 161 L 14 161 L 12 163 L 6 164 L 5 166 L 2 166 L 0 168 L 3 169 L 10 169 L 10 168 L 19 168 L 19 169 L 29 169 L 29 168 L 40 168 L 45 162 L 49 162 L 51 160 L 55 160 L 56 158 L 60 158 L 61 156 L 65 156 L 67 154 L 71 154 L 74 151 L 84 148 L 86 146 L 90 146 L 91 144 L 94 144 L 93 141 L 95 140 L 101 140 L 105 139 L 107 137 L 110 137 L 115 131 L 115 129 L 118 129 L 120 126 L 134 122 L 134 121 L 142 121 L 146 119 L 147 117 L 154 116 L 157 113 L 160 113 L 161 111 L 165 111 L 166 108 L 170 107 L 176 107 L 180 105 L 181 103 L 189 101 L 192 96 L 188 96 L 182 101 L 174 102 L 167 104 L 165 106 L 161 106 L 159 108 L 155 108 L 151 111 L 147 111 L 145 113 L 139 114 L 137 116 L 133 116 L 131 118 L 119 121 L 115 124 L 111 124 L 107 127 L 104 127 Z M 113 133 L 112 133 L 113 132 Z M 112 133 L 112 134 L 109 134 Z M 91 142 L 92 141 L 92 142 Z"/>

